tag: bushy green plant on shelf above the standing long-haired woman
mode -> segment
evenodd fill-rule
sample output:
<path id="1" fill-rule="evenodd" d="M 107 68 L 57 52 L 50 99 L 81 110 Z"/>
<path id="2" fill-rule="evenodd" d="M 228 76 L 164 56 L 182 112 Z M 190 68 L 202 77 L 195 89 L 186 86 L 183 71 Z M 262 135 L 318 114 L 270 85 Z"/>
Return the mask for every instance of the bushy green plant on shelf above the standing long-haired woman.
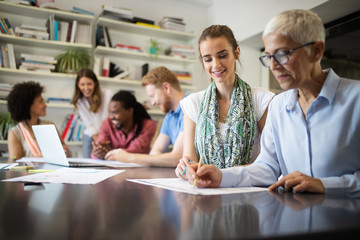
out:
<path id="1" fill-rule="evenodd" d="M 56 71 L 62 73 L 76 73 L 80 69 L 88 68 L 90 55 L 83 50 L 70 49 L 64 54 L 56 56 Z"/>

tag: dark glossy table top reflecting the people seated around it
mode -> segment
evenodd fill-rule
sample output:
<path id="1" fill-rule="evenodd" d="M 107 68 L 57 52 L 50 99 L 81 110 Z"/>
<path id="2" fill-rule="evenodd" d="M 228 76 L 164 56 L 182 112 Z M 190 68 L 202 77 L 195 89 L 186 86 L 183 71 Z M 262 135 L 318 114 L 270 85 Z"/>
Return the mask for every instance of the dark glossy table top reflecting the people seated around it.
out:
<path id="1" fill-rule="evenodd" d="M 163 177 L 174 170 L 131 168 L 96 185 L 0 182 L 0 239 L 359 239 L 360 198 L 195 196 L 126 181 Z"/>

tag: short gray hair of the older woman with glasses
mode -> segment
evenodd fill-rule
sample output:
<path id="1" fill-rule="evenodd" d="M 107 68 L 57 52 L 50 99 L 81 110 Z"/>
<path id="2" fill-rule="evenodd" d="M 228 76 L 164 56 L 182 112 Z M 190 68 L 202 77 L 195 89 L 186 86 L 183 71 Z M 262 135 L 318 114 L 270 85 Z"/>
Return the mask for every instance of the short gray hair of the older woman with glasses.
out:
<path id="1" fill-rule="evenodd" d="M 325 28 L 320 17 L 310 10 L 288 10 L 273 17 L 265 27 L 263 39 L 270 33 L 290 37 L 299 44 L 325 42 Z"/>

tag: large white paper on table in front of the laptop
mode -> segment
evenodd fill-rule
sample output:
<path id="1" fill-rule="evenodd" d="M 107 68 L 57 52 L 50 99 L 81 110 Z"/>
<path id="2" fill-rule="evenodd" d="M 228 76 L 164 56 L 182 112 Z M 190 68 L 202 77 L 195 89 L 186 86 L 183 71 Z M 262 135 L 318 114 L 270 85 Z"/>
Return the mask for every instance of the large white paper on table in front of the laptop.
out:
<path id="1" fill-rule="evenodd" d="M 59 168 L 53 172 L 10 178 L 4 182 L 96 184 L 125 170 L 94 168 Z"/>

